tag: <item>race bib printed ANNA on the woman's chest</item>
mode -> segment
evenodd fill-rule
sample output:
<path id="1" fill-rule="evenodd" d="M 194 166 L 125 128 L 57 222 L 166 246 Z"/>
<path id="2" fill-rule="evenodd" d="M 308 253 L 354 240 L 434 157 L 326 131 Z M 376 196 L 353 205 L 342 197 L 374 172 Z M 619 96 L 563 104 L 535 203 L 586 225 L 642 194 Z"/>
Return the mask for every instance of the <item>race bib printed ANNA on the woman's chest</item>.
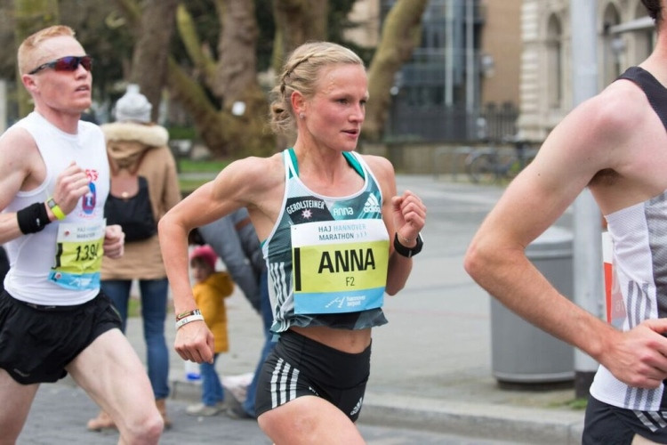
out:
<path id="1" fill-rule="evenodd" d="M 295 224 L 291 231 L 295 313 L 382 307 L 389 262 L 382 219 Z"/>

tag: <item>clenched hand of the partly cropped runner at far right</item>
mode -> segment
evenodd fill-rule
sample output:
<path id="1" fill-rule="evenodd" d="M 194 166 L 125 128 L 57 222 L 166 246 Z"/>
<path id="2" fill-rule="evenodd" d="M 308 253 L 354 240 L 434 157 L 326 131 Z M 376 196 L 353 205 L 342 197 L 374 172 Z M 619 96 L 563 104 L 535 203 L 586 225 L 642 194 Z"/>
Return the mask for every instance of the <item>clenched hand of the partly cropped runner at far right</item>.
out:
<path id="1" fill-rule="evenodd" d="M 657 388 L 667 378 L 667 319 L 645 320 L 618 332 L 599 358 L 611 373 L 636 388 Z"/>

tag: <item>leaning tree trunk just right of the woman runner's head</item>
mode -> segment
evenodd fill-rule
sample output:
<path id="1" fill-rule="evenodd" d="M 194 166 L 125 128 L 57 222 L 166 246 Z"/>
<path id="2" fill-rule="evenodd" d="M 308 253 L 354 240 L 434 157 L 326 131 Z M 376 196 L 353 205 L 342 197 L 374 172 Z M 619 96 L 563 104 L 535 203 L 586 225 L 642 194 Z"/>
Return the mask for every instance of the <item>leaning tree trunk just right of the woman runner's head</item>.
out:
<path id="1" fill-rule="evenodd" d="M 398 0 L 387 14 L 382 27 L 382 39 L 368 69 L 366 121 L 363 137 L 380 141 L 389 114 L 391 86 L 399 69 L 412 57 L 422 34 L 422 14 L 428 0 Z"/>

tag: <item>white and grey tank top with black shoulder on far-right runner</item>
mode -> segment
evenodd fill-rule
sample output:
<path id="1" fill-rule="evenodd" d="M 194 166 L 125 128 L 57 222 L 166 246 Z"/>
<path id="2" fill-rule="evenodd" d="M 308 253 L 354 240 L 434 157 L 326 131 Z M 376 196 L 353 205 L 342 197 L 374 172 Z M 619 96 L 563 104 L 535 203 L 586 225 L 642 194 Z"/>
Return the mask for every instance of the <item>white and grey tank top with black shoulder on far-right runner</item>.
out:
<path id="1" fill-rule="evenodd" d="M 639 67 L 627 69 L 619 78 L 639 85 L 667 129 L 667 90 L 663 85 Z M 667 190 L 605 217 L 614 245 L 608 321 L 627 331 L 643 320 L 667 317 Z M 604 366 L 596 373 L 591 395 L 625 409 L 667 408 L 664 384 L 653 390 L 634 388 L 623 384 Z"/>

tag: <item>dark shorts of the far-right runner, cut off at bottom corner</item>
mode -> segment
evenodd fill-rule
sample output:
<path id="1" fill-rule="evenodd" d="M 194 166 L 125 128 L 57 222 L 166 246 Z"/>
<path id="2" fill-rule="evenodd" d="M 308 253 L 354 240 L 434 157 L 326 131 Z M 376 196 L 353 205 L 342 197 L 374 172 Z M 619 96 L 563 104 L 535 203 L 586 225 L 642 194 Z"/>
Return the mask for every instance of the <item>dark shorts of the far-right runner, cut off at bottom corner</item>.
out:
<path id="1" fill-rule="evenodd" d="M 623 409 L 589 397 L 583 445 L 630 445 L 635 435 L 667 443 L 667 412 Z"/>

